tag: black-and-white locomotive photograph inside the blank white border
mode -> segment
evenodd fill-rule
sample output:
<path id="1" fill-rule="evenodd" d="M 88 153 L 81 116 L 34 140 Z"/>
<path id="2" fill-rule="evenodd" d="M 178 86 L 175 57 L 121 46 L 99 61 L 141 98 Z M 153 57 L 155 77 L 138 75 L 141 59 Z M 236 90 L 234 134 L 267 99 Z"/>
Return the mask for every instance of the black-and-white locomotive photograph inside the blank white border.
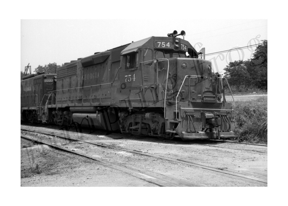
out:
<path id="1" fill-rule="evenodd" d="M 267 20 L 126 23 L 21 20 L 21 186 L 267 186 Z"/>

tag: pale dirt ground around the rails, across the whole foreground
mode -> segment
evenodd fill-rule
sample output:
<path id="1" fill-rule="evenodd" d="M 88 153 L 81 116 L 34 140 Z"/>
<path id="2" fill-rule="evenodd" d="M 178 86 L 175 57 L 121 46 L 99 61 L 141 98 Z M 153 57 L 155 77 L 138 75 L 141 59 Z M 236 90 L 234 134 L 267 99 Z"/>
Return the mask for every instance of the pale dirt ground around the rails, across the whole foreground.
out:
<path id="1" fill-rule="evenodd" d="M 23 132 L 22 135 L 55 144 L 59 147 L 85 153 L 113 164 L 136 168 L 151 174 L 162 174 L 196 183 L 201 186 L 267 186 L 267 183 L 223 174 L 196 166 L 143 156 L 127 151 L 98 147 L 82 142 L 53 138 L 64 136 L 56 127 L 21 126 L 21 129 L 47 132 L 52 136 Z M 74 130 L 75 131 L 75 130 Z M 152 138 L 119 137 L 104 132 L 83 131 L 83 135 L 69 131 L 72 138 L 128 149 L 173 160 L 222 168 L 261 178 L 267 181 L 267 147 L 233 143 L 206 143 L 161 141 Z M 66 133 L 67 135 L 67 133 Z M 194 142 L 199 143 L 199 142 Z M 217 147 L 215 147 L 217 146 Z M 223 148 L 226 147 L 226 148 Z M 105 163 L 37 145 L 21 139 L 21 186 L 156 186 L 123 170 Z"/>

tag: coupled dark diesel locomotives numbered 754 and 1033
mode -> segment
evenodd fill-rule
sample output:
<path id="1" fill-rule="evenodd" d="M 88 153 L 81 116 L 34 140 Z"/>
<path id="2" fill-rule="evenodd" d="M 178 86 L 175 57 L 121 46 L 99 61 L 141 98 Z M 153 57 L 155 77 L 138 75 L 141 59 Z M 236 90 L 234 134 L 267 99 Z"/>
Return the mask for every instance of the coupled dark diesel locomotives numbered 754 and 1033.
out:
<path id="1" fill-rule="evenodd" d="M 21 118 L 160 139 L 236 137 L 227 80 L 184 36 L 152 36 L 24 77 Z"/>

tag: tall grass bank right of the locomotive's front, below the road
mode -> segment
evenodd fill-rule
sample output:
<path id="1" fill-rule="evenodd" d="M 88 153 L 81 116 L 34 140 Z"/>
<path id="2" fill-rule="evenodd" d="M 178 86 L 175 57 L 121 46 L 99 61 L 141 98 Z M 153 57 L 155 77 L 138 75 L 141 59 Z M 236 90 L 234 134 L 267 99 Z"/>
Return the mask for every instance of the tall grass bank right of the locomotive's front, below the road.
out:
<path id="1" fill-rule="evenodd" d="M 234 109 L 237 140 L 267 144 L 267 97 L 235 102 Z"/>

